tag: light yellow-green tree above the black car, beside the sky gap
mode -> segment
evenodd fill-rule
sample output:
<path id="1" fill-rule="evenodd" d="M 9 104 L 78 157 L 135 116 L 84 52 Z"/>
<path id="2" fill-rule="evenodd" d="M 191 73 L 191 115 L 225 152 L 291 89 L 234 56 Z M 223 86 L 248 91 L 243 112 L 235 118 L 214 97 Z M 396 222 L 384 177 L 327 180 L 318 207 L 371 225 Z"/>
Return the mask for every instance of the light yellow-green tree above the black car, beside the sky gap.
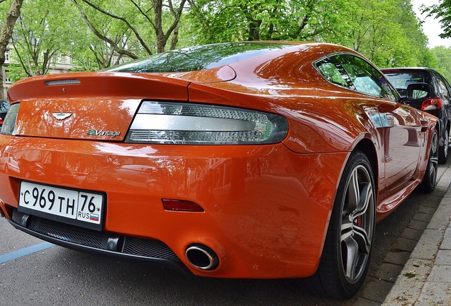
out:
<path id="1" fill-rule="evenodd" d="M 355 0 L 343 7 L 350 28 L 338 43 L 379 67 L 418 66 L 428 60 L 427 38 L 408 0 Z"/>

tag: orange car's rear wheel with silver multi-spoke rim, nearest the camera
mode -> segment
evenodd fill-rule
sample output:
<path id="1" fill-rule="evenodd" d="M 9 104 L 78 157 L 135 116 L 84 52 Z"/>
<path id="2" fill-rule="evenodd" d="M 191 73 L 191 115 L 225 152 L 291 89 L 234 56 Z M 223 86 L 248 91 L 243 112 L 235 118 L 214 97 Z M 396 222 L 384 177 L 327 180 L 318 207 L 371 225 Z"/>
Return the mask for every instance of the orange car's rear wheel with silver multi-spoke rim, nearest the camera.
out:
<path id="1" fill-rule="evenodd" d="M 361 151 L 352 152 L 340 179 L 323 254 L 299 288 L 333 299 L 350 298 L 362 287 L 374 242 L 376 196 L 372 167 Z"/>

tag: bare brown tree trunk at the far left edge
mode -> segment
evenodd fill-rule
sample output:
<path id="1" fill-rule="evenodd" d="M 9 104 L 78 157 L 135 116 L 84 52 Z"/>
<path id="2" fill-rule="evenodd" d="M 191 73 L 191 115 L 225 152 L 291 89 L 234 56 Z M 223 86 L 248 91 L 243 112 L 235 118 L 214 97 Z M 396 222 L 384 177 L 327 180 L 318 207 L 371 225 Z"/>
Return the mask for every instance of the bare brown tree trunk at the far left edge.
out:
<path id="1" fill-rule="evenodd" d="M 0 1 L 4 2 L 4 1 Z M 13 0 L 11 2 L 11 6 L 9 6 L 8 14 L 6 15 L 6 20 L 0 29 L 0 69 L 3 69 L 3 64 L 5 62 L 5 51 L 8 46 L 9 40 L 13 34 L 13 28 L 16 24 L 16 20 L 21 13 L 23 0 Z M 4 100 L 6 97 L 4 96 L 3 91 L 3 74 L 0 73 L 0 84 L 1 84 L 1 99 Z"/>

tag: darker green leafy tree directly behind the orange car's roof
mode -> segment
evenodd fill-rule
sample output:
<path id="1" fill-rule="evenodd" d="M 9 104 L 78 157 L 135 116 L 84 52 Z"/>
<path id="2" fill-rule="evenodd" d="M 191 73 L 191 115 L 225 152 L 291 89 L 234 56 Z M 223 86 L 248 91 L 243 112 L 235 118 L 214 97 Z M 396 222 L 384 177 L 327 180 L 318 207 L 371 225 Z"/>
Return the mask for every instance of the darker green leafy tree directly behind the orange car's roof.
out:
<path id="1" fill-rule="evenodd" d="M 347 0 L 188 0 L 201 42 L 321 40 L 341 35 L 338 11 Z"/>

